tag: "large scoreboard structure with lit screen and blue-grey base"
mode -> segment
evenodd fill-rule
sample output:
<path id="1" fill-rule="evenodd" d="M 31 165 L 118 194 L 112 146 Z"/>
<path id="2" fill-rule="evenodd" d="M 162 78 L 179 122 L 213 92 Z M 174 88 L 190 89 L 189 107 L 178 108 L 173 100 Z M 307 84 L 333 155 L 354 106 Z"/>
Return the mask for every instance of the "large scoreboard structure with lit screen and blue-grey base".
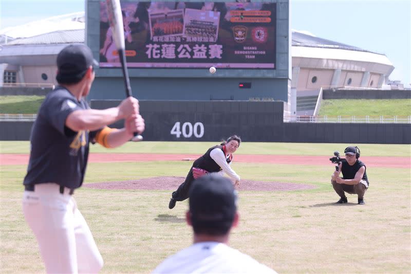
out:
<path id="1" fill-rule="evenodd" d="M 288 1 L 127 0 L 121 8 L 137 98 L 288 101 Z M 86 1 L 85 41 L 100 63 L 89 99 L 123 98 L 105 1 Z"/>

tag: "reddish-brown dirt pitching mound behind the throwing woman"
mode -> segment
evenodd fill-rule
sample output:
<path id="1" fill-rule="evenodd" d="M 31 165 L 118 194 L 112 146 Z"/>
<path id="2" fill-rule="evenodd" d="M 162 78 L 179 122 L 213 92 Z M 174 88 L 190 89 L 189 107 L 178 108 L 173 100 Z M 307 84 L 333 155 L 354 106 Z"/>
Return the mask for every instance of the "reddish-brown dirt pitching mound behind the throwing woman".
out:
<path id="1" fill-rule="evenodd" d="M 94 182 L 85 184 L 86 188 L 96 189 L 138 189 L 138 190 L 176 190 L 185 177 L 153 177 L 133 181 Z M 313 189 L 315 186 L 291 184 L 289 182 L 241 180 L 239 191 L 292 191 Z"/>

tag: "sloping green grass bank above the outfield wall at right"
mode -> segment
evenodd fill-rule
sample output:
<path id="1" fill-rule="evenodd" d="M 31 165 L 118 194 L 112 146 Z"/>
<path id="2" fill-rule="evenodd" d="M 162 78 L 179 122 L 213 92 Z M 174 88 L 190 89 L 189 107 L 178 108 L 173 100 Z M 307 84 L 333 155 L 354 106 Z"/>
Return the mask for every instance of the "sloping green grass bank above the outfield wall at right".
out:
<path id="1" fill-rule="evenodd" d="M 410 116 L 411 99 L 322 100 L 319 115 L 327 116 Z"/>

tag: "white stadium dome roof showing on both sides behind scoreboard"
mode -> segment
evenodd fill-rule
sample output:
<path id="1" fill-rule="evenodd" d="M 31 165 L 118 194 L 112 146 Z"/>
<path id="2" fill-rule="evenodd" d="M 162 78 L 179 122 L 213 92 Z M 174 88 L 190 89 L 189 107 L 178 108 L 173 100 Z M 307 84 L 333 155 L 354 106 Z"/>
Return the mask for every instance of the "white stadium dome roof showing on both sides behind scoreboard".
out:
<path id="1" fill-rule="evenodd" d="M 292 30 L 291 56 L 293 66 L 335 67 L 353 69 L 358 65 L 374 64 L 382 74 L 394 69 L 393 64 L 385 54 L 372 52 L 347 44 L 319 38 L 307 31 Z M 20 26 L 0 30 L 0 53 L 2 63 L 20 63 L 28 61 L 23 57 L 27 54 L 44 56 L 58 54 L 67 44 L 85 42 L 85 12 L 74 12 L 47 19 L 34 21 Z M 49 45 L 42 47 L 41 45 Z M 319 61 L 320 60 L 320 61 Z M 323 60 L 328 60 L 330 66 L 324 66 Z M 337 62 L 337 64 L 336 64 Z M 315 64 L 314 64 L 315 63 Z M 354 67 L 353 67 L 354 66 Z"/>

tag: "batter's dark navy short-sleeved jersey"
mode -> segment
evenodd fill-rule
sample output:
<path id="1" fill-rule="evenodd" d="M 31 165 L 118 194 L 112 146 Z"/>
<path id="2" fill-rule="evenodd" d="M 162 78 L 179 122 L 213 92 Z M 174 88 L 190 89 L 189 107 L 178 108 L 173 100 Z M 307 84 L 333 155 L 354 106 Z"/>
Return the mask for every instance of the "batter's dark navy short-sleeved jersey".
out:
<path id="1" fill-rule="evenodd" d="M 99 131 L 73 132 L 65 126 L 73 111 L 90 108 L 67 89 L 58 86 L 40 106 L 30 137 L 30 160 L 24 185 L 55 182 L 75 189 L 82 185 L 89 140 Z"/>

